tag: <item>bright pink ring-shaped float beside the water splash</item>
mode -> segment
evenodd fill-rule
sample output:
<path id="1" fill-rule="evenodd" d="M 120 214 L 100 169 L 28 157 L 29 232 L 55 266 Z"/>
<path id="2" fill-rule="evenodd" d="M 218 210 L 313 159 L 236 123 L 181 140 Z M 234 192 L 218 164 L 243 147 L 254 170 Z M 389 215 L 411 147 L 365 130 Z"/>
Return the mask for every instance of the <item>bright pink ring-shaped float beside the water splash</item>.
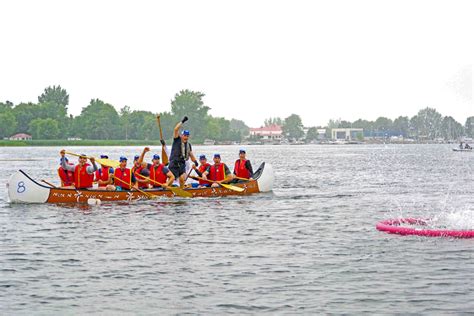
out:
<path id="1" fill-rule="evenodd" d="M 400 226 L 400 224 L 426 226 L 427 220 L 421 218 L 397 218 L 379 222 L 377 230 L 398 235 L 416 235 L 424 237 L 474 238 L 474 230 L 419 229 Z"/>

